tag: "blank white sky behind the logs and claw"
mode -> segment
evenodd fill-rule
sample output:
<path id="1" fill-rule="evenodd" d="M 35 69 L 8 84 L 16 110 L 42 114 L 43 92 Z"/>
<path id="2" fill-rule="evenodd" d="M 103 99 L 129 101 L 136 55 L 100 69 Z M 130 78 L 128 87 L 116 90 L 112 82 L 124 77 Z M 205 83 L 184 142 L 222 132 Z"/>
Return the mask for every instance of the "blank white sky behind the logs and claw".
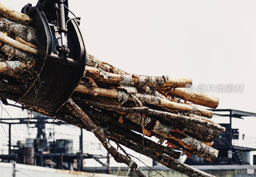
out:
<path id="1" fill-rule="evenodd" d="M 36 2 L 3 4 L 20 11 Z M 218 108 L 249 112 L 256 112 L 255 6 L 252 0 L 69 2 L 81 17 L 88 54 L 136 74 L 190 77 L 195 85 L 244 84 L 243 93 L 212 95 L 220 98 Z M 234 120 L 233 128 L 254 136 L 256 118 Z"/>

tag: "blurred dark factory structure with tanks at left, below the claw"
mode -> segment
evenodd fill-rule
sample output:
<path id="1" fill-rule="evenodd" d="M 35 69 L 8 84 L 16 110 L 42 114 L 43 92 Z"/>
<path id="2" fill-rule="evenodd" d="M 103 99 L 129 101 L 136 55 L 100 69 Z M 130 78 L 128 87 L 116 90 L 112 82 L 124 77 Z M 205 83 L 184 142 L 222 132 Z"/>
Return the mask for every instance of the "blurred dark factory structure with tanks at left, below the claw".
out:
<path id="1" fill-rule="evenodd" d="M 43 166 L 56 169 L 83 171 L 84 159 L 94 159 L 100 165 L 105 165 L 100 159 L 106 159 L 107 156 L 95 155 L 83 152 L 83 131 L 80 129 L 79 150 L 74 153 L 73 139 L 53 138 L 54 131 L 46 135 L 45 128 L 47 124 L 65 125 L 65 122 L 58 122 L 45 115 L 33 112 L 32 117 L 28 118 L 2 118 L 1 123 L 9 127 L 8 154 L 0 155 L 1 162 L 13 162 L 18 164 Z M 36 128 L 36 138 L 26 138 L 25 141 L 12 141 L 12 127 L 17 124 L 33 125 L 30 128 Z M 107 164 L 106 164 L 107 165 Z"/>

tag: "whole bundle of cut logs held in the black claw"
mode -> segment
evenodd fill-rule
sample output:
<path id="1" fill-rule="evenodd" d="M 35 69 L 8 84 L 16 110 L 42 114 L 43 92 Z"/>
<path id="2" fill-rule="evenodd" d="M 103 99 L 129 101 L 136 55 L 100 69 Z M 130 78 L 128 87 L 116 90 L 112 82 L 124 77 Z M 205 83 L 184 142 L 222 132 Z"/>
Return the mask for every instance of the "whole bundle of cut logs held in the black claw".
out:
<path id="1" fill-rule="evenodd" d="M 218 150 L 212 148 L 213 141 L 225 131 L 209 119 L 212 111 L 194 106 L 216 108 L 219 99 L 187 93 L 184 87 L 192 84 L 191 79 L 130 74 L 87 55 L 82 80 L 58 112 L 9 104 L 6 99 L 16 101 L 35 79 L 38 40 L 31 24 L 33 20 L 27 15 L 0 4 L 0 97 L 4 104 L 93 132 L 117 162 L 127 164 L 139 176 L 147 175 L 120 144 L 188 176 L 212 176 L 176 160 L 195 154 L 214 162 Z M 151 136 L 159 141 L 151 141 Z M 177 147 L 180 151 L 173 150 Z"/>

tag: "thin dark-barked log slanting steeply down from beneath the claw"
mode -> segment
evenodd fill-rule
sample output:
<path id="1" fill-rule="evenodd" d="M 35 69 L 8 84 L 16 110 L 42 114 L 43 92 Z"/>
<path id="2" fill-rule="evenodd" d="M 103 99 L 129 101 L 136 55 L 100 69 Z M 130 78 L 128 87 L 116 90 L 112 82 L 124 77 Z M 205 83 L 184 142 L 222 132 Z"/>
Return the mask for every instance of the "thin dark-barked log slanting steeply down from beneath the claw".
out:
<path id="1" fill-rule="evenodd" d="M 94 133 L 94 135 L 100 140 L 101 144 L 106 148 L 106 150 L 114 157 L 116 162 L 119 163 L 125 163 L 128 165 L 132 170 L 137 173 L 139 176 L 147 177 L 147 175 L 138 167 L 138 165 L 132 161 L 132 159 L 128 158 L 127 156 L 124 156 L 116 151 L 116 149 L 111 146 L 107 139 L 102 135 L 100 129 L 97 127 L 97 125 L 92 122 L 92 120 L 82 111 L 80 107 L 76 105 L 76 103 L 69 99 L 67 101 L 67 107 L 70 110 L 70 112 L 77 117 L 79 117 L 84 124 L 91 129 L 91 131 Z"/>

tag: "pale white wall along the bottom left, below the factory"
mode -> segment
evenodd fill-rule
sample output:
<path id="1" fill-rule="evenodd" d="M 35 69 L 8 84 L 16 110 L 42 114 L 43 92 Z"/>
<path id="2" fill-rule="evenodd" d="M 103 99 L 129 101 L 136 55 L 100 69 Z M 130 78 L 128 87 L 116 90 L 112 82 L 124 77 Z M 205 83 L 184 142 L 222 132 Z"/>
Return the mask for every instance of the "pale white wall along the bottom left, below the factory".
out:
<path id="1" fill-rule="evenodd" d="M 1 177 L 12 177 L 13 176 L 13 164 L 0 162 L 0 176 Z M 46 168 L 41 166 L 29 166 L 23 164 L 15 164 L 15 177 L 84 177 L 84 176 L 95 176 L 95 177 L 114 177 L 114 175 L 100 174 L 100 173 L 87 173 L 77 172 L 70 170 L 60 170 L 53 168 Z M 116 177 L 116 176 L 115 176 Z"/>

